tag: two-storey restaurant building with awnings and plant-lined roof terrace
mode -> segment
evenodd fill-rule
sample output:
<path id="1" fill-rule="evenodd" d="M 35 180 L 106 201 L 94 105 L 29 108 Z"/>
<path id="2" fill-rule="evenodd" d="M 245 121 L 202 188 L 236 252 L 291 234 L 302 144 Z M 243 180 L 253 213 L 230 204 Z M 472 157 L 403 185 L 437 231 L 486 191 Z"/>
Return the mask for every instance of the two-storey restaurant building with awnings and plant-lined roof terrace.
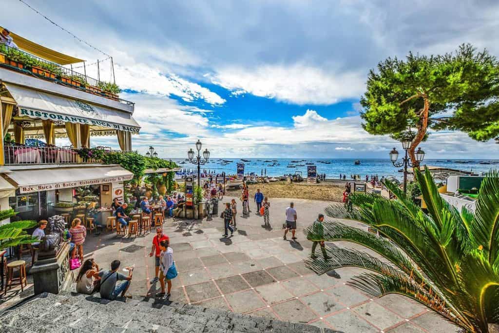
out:
<path id="1" fill-rule="evenodd" d="M 83 60 L 13 40 L 17 47 L 0 44 L 0 209 L 12 207 L 21 219 L 70 219 L 95 202 L 104 220 L 133 174 L 102 164 L 89 148 L 105 135 L 116 138 L 117 152 L 131 151 L 140 130 L 134 103 L 121 99 L 116 85 L 67 68 Z M 56 146 L 56 138 L 69 143 Z"/>

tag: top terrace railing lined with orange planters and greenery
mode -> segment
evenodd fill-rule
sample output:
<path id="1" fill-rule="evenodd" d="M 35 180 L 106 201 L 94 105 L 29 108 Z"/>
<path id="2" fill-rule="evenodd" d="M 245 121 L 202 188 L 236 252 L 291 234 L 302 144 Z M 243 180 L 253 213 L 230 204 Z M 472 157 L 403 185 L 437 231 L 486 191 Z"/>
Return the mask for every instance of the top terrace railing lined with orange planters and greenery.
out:
<path id="1" fill-rule="evenodd" d="M 37 57 L 14 47 L 0 44 L 0 66 L 50 80 L 94 95 L 117 100 L 125 104 L 133 102 L 121 99 L 116 93 L 105 91 L 108 82 L 99 81 L 70 68 Z"/>

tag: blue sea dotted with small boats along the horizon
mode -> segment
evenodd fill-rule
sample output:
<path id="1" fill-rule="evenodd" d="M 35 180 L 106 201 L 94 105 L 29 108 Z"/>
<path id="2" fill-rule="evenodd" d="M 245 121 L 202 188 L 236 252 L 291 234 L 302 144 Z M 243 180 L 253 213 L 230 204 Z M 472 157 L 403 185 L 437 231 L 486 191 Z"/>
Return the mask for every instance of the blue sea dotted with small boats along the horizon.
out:
<path id="1" fill-rule="evenodd" d="M 245 160 L 245 161 L 242 161 Z M 197 164 L 186 159 L 172 159 L 181 168 L 182 172 L 197 172 Z M 224 162 L 225 161 L 225 162 Z M 359 164 L 355 164 L 358 161 Z M 210 158 L 201 165 L 201 171 L 208 173 L 222 173 L 226 175 L 236 174 L 237 163 L 244 163 L 245 175 L 267 175 L 278 177 L 289 174 L 301 173 L 302 177 L 307 175 L 307 166 L 316 165 L 317 174 L 326 174 L 326 178 L 339 179 L 340 174 L 360 175 L 361 179 L 366 175 L 378 175 L 378 177 L 394 177 L 402 179 L 401 168 L 394 167 L 387 159 L 304 159 L 304 158 Z M 312 163 L 312 164 L 307 164 Z M 499 169 L 499 160 L 425 160 L 423 165 L 438 166 L 463 171 L 473 171 L 483 174 L 491 169 Z M 289 167 L 288 167 L 289 166 Z M 292 167 L 291 167 L 292 166 Z M 400 170 L 400 171 L 399 171 Z"/>

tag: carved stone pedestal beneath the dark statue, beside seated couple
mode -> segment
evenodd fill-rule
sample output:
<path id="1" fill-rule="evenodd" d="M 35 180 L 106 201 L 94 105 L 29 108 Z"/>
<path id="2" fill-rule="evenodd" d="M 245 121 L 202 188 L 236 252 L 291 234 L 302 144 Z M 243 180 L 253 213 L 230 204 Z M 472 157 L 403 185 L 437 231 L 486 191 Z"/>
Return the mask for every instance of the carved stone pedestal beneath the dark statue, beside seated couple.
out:
<path id="1" fill-rule="evenodd" d="M 43 292 L 59 294 L 73 282 L 73 273 L 69 270 L 69 243 L 61 245 L 55 256 L 37 260 L 30 270 L 33 275 L 34 294 Z"/>

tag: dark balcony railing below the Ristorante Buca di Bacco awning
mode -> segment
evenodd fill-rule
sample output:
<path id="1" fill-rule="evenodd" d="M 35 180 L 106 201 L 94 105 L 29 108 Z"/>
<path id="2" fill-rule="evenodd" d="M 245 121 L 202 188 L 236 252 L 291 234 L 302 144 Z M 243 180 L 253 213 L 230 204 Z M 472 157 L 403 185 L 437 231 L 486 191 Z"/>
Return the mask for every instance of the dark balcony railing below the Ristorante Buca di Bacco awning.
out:
<path id="1" fill-rule="evenodd" d="M 121 152 L 121 150 L 103 149 L 105 153 Z M 4 146 L 5 165 L 27 164 L 91 164 L 102 163 L 100 159 L 81 157 L 78 150 L 71 147 L 32 147 L 32 146 Z"/>

